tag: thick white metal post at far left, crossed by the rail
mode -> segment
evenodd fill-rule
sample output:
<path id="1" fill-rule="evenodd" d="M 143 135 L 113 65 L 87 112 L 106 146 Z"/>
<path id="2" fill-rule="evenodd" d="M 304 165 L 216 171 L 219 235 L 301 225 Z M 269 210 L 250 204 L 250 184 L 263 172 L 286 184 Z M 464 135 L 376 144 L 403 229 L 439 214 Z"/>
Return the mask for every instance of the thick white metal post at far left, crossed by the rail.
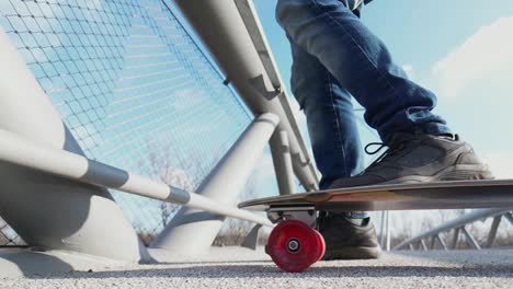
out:
<path id="1" fill-rule="evenodd" d="M 0 62 L 0 129 L 83 155 L 1 28 Z M 7 162 L 0 162 L 0 215 L 29 245 L 129 262 L 148 259 L 106 189 Z"/>

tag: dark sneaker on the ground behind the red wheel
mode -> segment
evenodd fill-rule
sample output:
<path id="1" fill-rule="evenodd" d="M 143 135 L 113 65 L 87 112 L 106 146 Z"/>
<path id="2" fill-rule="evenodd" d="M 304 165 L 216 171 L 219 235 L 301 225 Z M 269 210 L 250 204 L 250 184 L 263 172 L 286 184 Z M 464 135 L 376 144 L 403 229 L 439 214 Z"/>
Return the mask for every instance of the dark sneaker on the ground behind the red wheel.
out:
<path id="1" fill-rule="evenodd" d="M 351 219 L 347 213 L 322 211 L 318 230 L 324 238 L 322 259 L 369 259 L 381 253 L 371 218 Z"/>

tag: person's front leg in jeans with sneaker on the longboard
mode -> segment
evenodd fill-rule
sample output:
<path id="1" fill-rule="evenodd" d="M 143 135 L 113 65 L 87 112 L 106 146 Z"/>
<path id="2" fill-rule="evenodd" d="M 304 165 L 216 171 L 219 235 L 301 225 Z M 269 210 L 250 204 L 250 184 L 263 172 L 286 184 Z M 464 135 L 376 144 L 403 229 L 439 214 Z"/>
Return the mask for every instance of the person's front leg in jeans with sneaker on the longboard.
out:
<path id="1" fill-rule="evenodd" d="M 363 174 L 331 188 L 492 178 L 472 148 L 432 113 L 436 96 L 407 78 L 345 0 L 278 0 L 276 18 L 364 106 L 365 120 L 389 147 Z"/>

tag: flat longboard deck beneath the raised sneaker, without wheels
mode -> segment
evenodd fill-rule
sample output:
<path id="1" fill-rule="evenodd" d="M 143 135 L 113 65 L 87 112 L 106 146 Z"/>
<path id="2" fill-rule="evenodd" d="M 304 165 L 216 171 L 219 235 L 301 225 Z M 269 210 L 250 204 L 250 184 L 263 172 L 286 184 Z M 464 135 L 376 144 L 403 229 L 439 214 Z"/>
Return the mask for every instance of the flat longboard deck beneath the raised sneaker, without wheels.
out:
<path id="1" fill-rule="evenodd" d="M 419 210 L 513 208 L 513 180 L 375 185 L 259 198 L 239 208 L 298 210 Z"/>

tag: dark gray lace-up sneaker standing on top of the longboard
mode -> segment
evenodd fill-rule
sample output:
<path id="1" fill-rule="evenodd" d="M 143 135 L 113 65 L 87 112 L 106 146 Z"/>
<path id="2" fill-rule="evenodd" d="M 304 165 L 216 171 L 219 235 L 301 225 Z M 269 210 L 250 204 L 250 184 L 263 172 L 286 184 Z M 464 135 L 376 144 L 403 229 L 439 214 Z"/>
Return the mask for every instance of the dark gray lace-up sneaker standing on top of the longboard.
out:
<path id="1" fill-rule="evenodd" d="M 379 148 L 369 152 L 368 148 L 376 144 Z M 384 147 L 388 149 L 364 172 L 337 180 L 330 188 L 493 178 L 470 144 L 457 135 L 397 134 L 390 143 L 369 143 L 365 151 L 375 154 Z"/>

